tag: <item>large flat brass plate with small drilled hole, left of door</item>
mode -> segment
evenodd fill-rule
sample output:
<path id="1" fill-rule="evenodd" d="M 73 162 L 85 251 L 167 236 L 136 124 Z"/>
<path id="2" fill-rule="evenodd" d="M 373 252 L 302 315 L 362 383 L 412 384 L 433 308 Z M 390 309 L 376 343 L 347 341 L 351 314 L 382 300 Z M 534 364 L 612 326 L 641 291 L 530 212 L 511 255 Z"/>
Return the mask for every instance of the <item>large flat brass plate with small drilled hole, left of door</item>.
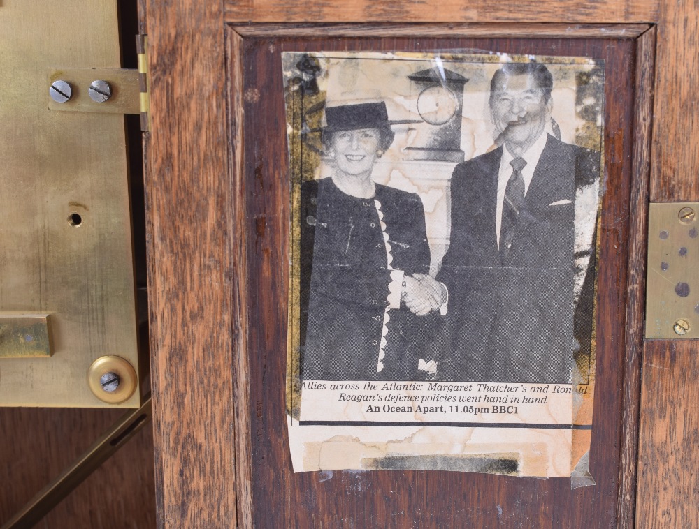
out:
<path id="1" fill-rule="evenodd" d="M 50 358 L 0 358 L 0 405 L 136 408 L 87 384 L 138 370 L 122 114 L 50 110 L 51 69 L 120 68 L 117 2 L 2 0 L 0 313 L 50 314 Z M 138 371 L 137 371 L 138 374 Z"/>

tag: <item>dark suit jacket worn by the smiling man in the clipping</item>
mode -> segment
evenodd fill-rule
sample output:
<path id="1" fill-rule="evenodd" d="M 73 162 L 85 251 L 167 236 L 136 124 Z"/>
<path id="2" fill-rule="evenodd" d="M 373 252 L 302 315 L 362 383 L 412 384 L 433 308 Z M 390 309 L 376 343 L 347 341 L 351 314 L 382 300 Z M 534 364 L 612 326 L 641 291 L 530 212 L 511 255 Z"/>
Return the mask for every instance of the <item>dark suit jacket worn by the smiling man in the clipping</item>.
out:
<path id="1" fill-rule="evenodd" d="M 598 178 L 599 154 L 547 137 L 504 262 L 496 234 L 502 154 L 454 168 L 450 244 L 437 277 L 449 290 L 438 378 L 565 383 L 573 353 L 590 348 L 593 273 L 573 315 L 575 198 Z"/>

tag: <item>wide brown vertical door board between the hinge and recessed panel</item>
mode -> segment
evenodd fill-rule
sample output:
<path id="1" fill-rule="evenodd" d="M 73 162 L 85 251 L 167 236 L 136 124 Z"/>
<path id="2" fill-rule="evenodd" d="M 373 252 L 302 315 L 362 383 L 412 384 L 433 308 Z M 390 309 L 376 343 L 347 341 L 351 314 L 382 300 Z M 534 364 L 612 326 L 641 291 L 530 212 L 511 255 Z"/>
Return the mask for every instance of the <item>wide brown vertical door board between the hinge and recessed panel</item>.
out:
<path id="1" fill-rule="evenodd" d="M 222 3 L 147 2 L 146 204 L 161 527 L 236 526 Z"/>

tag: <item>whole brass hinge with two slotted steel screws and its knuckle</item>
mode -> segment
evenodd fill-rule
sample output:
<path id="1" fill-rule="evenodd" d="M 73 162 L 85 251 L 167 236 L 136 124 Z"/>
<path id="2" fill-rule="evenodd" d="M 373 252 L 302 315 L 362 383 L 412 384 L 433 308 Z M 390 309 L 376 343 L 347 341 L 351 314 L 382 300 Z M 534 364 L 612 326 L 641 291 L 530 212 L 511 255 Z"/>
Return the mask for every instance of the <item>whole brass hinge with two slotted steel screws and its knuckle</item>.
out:
<path id="1" fill-rule="evenodd" d="M 142 131 L 148 117 L 147 37 L 136 36 L 138 70 L 125 68 L 50 68 L 48 107 L 64 112 L 140 114 Z"/>

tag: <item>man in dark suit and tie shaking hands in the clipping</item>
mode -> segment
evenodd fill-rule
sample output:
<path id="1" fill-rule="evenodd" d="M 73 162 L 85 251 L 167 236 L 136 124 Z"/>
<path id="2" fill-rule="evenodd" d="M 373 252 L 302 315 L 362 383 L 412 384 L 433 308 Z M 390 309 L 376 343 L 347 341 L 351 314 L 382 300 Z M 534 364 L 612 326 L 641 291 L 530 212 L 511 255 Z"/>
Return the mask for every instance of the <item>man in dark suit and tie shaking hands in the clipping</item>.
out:
<path id="1" fill-rule="evenodd" d="M 454 168 L 440 380 L 566 383 L 589 352 L 600 156 L 546 132 L 552 88 L 543 64 L 497 70 L 500 147 Z"/>

